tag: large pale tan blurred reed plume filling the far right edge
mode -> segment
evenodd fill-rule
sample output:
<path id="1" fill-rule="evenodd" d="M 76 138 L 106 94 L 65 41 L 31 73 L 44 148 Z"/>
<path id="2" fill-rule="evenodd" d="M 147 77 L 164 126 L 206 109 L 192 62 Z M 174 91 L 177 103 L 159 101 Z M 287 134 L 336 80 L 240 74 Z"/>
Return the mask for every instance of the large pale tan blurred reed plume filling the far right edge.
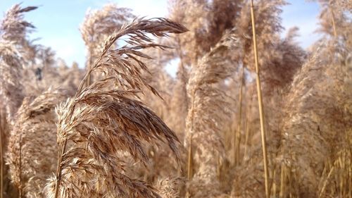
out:
<path id="1" fill-rule="evenodd" d="M 287 96 L 284 156 L 290 156 L 287 163 L 299 173 L 297 185 L 303 197 L 317 195 L 324 161 L 337 152 L 339 142 L 344 142 L 343 134 L 351 128 L 343 89 L 345 73 L 341 73 L 346 68 L 348 49 L 343 40 L 321 41 L 296 75 Z"/>

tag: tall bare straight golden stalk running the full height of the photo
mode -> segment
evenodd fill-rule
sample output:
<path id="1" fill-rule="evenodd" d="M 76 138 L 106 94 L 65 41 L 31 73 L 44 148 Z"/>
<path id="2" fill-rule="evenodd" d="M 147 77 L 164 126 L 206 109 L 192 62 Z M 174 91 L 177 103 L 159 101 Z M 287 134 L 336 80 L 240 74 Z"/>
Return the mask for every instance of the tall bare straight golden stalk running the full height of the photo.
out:
<path id="1" fill-rule="evenodd" d="M 263 111 L 263 98 L 260 87 L 260 75 L 259 75 L 259 66 L 258 66 L 258 51 L 257 51 L 257 42 L 256 42 L 256 19 L 254 17 L 254 8 L 253 0 L 251 0 L 251 20 L 252 20 L 252 31 L 253 31 L 253 47 L 254 47 L 254 61 L 256 63 L 256 84 L 258 92 L 258 106 L 259 106 L 259 116 L 260 116 L 260 133 L 261 141 L 263 147 L 263 163 L 264 163 L 264 178 L 265 178 L 265 197 L 270 197 L 269 190 L 269 173 L 268 173 L 268 158 L 266 151 L 266 140 L 265 140 L 265 128 L 264 128 L 264 111 Z"/>

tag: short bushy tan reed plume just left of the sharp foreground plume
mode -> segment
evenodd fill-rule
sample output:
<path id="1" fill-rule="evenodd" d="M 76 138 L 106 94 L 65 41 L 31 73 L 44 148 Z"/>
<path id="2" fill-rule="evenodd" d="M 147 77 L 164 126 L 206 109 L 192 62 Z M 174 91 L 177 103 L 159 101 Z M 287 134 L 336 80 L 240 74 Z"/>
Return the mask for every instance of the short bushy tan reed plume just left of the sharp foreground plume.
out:
<path id="1" fill-rule="evenodd" d="M 64 98 L 49 90 L 38 97 L 25 97 L 8 137 L 6 163 L 20 197 L 44 197 L 46 178 L 55 170 L 55 106 Z"/>

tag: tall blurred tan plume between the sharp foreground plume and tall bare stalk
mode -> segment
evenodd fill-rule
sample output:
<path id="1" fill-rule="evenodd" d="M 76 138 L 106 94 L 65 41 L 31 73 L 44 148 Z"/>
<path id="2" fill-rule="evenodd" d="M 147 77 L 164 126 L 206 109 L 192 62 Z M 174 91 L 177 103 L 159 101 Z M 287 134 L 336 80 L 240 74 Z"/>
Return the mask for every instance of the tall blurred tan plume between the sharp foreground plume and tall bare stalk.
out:
<path id="1" fill-rule="evenodd" d="M 191 99 L 186 120 L 184 142 L 193 152 L 194 178 L 190 181 L 189 196 L 204 197 L 219 194 L 218 161 L 224 161 L 225 148 L 219 132 L 222 123 L 229 119 L 226 95 L 217 86 L 230 77 L 234 67 L 224 56 L 227 50 L 237 47 L 233 32 L 227 32 L 220 42 L 191 71 L 187 92 Z M 190 144 L 196 142 L 196 144 Z M 208 189 L 208 190 L 199 190 Z"/>

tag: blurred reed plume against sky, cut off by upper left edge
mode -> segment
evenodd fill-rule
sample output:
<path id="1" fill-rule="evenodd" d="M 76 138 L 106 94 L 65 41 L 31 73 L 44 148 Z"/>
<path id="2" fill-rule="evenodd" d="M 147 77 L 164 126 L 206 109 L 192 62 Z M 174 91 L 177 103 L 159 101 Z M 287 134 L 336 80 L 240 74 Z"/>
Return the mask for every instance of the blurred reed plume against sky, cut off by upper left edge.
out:
<path id="1" fill-rule="evenodd" d="M 12 120 L 23 100 L 20 85 L 23 63 L 21 44 L 26 40 L 27 32 L 34 26 L 24 20 L 23 14 L 36 9 L 29 6 L 21 8 L 16 4 L 10 8 L 0 25 L 0 95 L 6 101 L 8 118 Z"/>

